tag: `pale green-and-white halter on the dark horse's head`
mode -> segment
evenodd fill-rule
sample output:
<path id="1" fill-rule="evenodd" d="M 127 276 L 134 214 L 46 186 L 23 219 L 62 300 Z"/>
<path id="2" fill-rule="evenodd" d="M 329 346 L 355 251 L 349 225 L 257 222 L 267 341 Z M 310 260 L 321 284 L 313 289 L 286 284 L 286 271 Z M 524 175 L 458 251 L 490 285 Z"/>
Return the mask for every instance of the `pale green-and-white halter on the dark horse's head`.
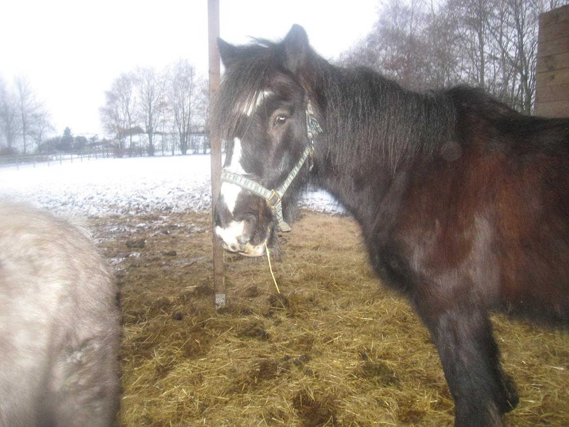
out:
<path id="1" fill-rule="evenodd" d="M 246 178 L 244 175 L 236 174 L 234 172 L 230 172 L 225 168 L 221 169 L 221 181 L 222 182 L 229 182 L 232 184 L 237 184 L 241 188 L 245 188 L 245 190 L 249 190 L 254 192 L 258 196 L 261 196 L 263 199 L 266 200 L 267 205 L 275 212 L 275 216 L 277 217 L 278 227 L 281 231 L 291 231 L 290 225 L 288 225 L 283 218 L 283 208 L 282 208 L 282 198 L 284 196 L 284 192 L 286 192 L 288 186 L 294 179 L 294 177 L 299 173 L 300 168 L 306 162 L 306 159 L 310 155 L 310 170 L 312 170 L 312 166 L 314 166 L 314 136 L 318 135 L 319 133 L 323 132 L 322 128 L 318 124 L 318 120 L 314 117 L 314 111 L 312 111 L 312 104 L 310 100 L 308 100 L 308 104 L 306 105 L 306 134 L 308 136 L 308 141 L 310 144 L 304 149 L 302 155 L 296 165 L 292 168 L 290 173 L 288 174 L 287 178 L 284 180 L 282 186 L 278 187 L 275 190 L 268 190 L 267 188 L 263 187 L 258 182 L 255 182 L 252 179 Z"/>

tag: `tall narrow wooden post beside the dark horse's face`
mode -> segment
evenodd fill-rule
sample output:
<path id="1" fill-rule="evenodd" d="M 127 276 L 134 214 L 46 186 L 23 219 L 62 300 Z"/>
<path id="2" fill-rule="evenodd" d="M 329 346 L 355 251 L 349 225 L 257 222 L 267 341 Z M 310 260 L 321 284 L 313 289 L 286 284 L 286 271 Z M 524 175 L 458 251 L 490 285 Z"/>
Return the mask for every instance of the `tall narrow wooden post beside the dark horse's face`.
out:
<path id="1" fill-rule="evenodd" d="M 208 0 L 208 51 L 209 51 L 209 105 L 213 105 L 213 97 L 219 87 L 220 58 L 217 50 L 219 36 L 219 0 Z M 209 132 L 209 145 L 211 147 L 212 172 L 212 239 L 213 239 L 213 294 L 215 307 L 225 307 L 225 265 L 224 251 L 215 232 L 215 219 L 213 212 L 221 188 L 221 141 L 215 137 L 215 132 Z"/>

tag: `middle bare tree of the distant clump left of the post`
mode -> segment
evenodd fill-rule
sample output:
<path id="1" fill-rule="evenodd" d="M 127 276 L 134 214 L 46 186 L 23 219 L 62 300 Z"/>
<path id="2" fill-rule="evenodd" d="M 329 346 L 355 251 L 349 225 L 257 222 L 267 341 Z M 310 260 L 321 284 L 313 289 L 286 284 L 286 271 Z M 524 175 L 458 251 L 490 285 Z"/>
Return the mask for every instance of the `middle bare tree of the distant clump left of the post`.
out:
<path id="1" fill-rule="evenodd" d="M 165 108 L 164 81 L 154 68 L 138 68 L 135 74 L 138 89 L 138 109 L 148 137 L 148 154 L 154 155 L 154 136 Z"/>

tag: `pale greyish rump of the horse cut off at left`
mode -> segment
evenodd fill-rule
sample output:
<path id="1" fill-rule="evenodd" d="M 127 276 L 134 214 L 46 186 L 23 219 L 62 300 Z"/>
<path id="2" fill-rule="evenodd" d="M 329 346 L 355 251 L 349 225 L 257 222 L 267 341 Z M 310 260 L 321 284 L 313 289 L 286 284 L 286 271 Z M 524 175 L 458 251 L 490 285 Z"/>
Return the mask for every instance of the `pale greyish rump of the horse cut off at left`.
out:
<path id="1" fill-rule="evenodd" d="M 0 426 L 112 426 L 116 285 L 88 233 L 0 201 Z"/>

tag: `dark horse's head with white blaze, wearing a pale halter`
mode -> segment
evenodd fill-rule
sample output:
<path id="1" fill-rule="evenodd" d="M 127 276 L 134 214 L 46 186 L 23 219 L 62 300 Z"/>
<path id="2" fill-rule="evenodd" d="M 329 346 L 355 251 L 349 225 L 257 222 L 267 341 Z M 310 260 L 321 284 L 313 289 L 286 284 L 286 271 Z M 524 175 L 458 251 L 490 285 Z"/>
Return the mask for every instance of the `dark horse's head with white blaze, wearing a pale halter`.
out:
<path id="1" fill-rule="evenodd" d="M 281 43 L 232 46 L 218 39 L 224 78 L 212 117 L 226 158 L 215 211 L 225 249 L 261 256 L 277 229 L 289 231 L 321 132 L 310 104 L 306 32 L 293 26 Z"/>

